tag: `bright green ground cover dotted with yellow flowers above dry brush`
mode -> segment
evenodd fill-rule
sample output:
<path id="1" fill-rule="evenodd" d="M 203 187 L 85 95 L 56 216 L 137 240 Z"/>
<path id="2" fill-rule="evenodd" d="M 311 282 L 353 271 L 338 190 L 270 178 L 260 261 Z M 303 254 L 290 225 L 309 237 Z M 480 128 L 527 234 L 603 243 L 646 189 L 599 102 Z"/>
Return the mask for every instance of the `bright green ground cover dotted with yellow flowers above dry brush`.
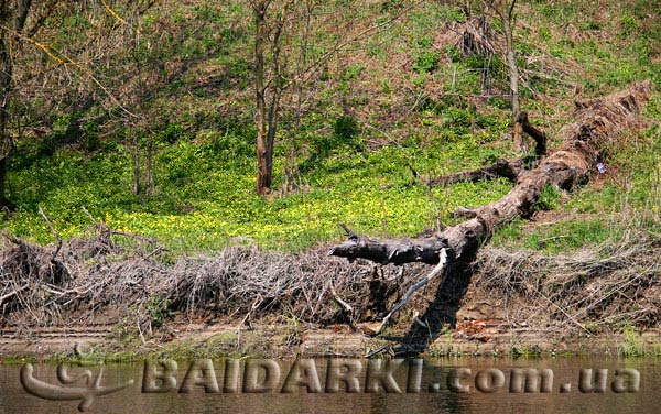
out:
<path id="1" fill-rule="evenodd" d="M 337 240 L 346 222 L 356 231 L 413 236 L 443 220 L 458 206 L 477 206 L 502 196 L 506 183 L 459 184 L 434 189 L 410 186 L 407 163 L 425 173 L 440 163 L 459 170 L 484 151 L 470 137 L 462 145 L 430 144 L 424 150 L 383 148 L 372 152 L 334 149 L 307 177 L 310 189 L 283 197 L 254 195 L 249 157 L 229 160 L 215 143 L 178 141 L 156 157 L 151 197 L 131 194 L 131 159 L 126 149 L 85 156 L 61 151 L 22 168 L 12 168 L 12 188 L 21 206 L 4 222 L 12 233 L 53 241 L 41 206 L 65 238 L 90 225 L 83 207 L 117 230 L 152 236 L 175 250 L 217 249 L 235 238 L 297 250 Z M 492 150 L 490 150 L 492 152 Z M 281 167 L 280 162 L 275 171 Z M 449 168 L 448 168 L 449 170 Z M 446 171 L 449 172 L 449 171 Z"/>

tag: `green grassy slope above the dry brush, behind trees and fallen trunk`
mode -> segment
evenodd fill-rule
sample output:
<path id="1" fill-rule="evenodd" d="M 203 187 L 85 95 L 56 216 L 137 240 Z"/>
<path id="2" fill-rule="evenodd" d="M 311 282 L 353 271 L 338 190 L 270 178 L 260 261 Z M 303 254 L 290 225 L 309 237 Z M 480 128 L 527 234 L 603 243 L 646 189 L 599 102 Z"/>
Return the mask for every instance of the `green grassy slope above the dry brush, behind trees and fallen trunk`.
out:
<path id="1" fill-rule="evenodd" d="M 384 1 L 355 18 L 383 21 L 401 3 Z M 661 25 L 648 18 L 660 15 L 655 2 L 530 1 L 520 8 L 514 37 L 524 75 L 522 108 L 552 137 L 551 148 L 572 119 L 574 99 L 644 78 L 661 84 Z M 117 12 L 123 11 L 118 4 Z M 71 19 L 62 30 L 45 32 L 54 47 L 78 44 L 93 30 L 86 19 Z M 305 96 L 300 119 L 282 117 L 277 189 L 263 198 L 254 195 L 249 8 L 240 1 L 164 2 L 140 19 L 140 43 L 121 62 L 142 72 L 130 75 L 110 64 L 94 69 L 118 90 L 113 79 L 121 74 L 126 92 L 140 97 L 127 107 L 147 123 L 127 127 L 91 105 L 53 109 L 42 124 L 35 119 L 53 105 L 45 98 L 26 101 L 20 113 L 28 127 L 45 133 L 17 141 L 9 195 L 18 210 L 4 215 L 4 230 L 52 242 L 41 207 L 61 236 L 74 237 L 91 225 L 86 208 L 113 229 L 159 238 L 175 252 L 232 243 L 300 250 L 339 240 L 338 222 L 377 237 L 414 236 L 456 222 L 449 216 L 456 207 L 492 201 L 511 187 L 506 181 L 411 185 L 411 168 L 434 176 L 516 156 L 501 59 L 464 56 L 456 44 L 438 43 L 446 25 L 466 20 L 458 8 L 423 3 L 332 58 Z M 496 23 L 491 30 L 500 29 Z M 34 62 L 41 61 L 36 54 Z M 489 74 L 488 99 L 481 98 L 483 68 Z M 134 77 L 123 81 L 124 76 Z M 655 92 L 648 118 L 661 117 L 660 99 Z M 571 219 L 540 227 L 517 220 L 492 241 L 562 252 L 600 243 L 631 225 L 613 217 L 659 228 L 661 131 L 651 126 L 622 140 L 599 185 L 568 200 L 556 188 L 542 194 L 541 210 Z M 131 190 L 136 145 L 142 175 L 152 157 L 151 186 L 138 195 Z M 154 306 L 155 320 L 161 310 Z"/>

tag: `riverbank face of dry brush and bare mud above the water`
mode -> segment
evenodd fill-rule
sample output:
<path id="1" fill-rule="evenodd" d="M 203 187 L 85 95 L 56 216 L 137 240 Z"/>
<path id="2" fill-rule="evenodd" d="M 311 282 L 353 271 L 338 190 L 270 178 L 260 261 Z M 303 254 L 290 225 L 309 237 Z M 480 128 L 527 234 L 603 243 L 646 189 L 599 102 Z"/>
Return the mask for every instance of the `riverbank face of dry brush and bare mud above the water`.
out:
<path id="1" fill-rule="evenodd" d="M 470 272 L 430 283 L 375 336 L 431 266 L 349 263 L 325 247 L 172 258 L 102 226 L 48 247 L 7 238 L 0 355 L 71 353 L 75 342 L 111 359 L 661 353 L 659 254 L 644 232 L 573 255 L 485 248 Z M 431 306 L 441 317 L 422 319 Z M 411 334 L 421 325 L 424 338 Z"/>

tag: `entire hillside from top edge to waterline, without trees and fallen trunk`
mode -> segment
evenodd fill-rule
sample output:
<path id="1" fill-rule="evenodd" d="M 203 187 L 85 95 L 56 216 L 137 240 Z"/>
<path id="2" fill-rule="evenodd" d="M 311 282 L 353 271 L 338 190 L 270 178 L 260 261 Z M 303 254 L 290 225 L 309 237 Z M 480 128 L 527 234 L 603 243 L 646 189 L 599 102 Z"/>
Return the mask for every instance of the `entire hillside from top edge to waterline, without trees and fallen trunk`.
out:
<path id="1" fill-rule="evenodd" d="M 101 331 L 118 324 L 112 346 L 147 347 L 170 341 L 185 324 L 239 324 L 240 333 L 252 322 L 278 326 L 273 338 L 292 350 L 314 323 L 379 320 L 429 271 L 325 258 L 343 238 L 338 222 L 380 238 L 431 233 L 458 222 L 451 215 L 457 207 L 486 205 L 512 187 L 507 179 L 440 187 L 416 179 L 520 156 L 497 20 L 485 30 L 475 12 L 433 1 L 410 10 L 402 1 L 367 1 L 345 10 L 345 20 L 321 7 L 313 56 L 343 36 L 379 30 L 283 97 L 274 188 L 259 197 L 246 2 L 167 0 L 140 15 L 112 4 L 124 24 L 104 8 L 79 6 L 40 32 L 53 50 L 85 62 L 98 84 L 28 46 L 17 66 L 9 159 L 17 211 L 3 216 L 0 252 L 1 320 L 12 335 L 58 324 L 66 333 L 71 320 Z M 474 37 L 481 46 L 467 51 L 465 33 L 484 36 Z M 632 81 L 661 85 L 655 2 L 521 2 L 514 41 L 521 107 L 551 150 L 575 102 Z M 660 99 L 654 90 L 640 132 L 621 131 L 607 149 L 605 173 L 573 193 L 549 186 L 530 219 L 495 232 L 473 281 L 451 286 L 464 299 L 448 302 L 449 338 L 473 347 L 505 333 L 496 347 L 502 350 L 527 329 L 537 334 L 524 346 L 553 331 L 551 350 L 566 335 L 624 333 L 631 345 L 640 329 L 661 341 L 659 273 L 647 253 L 658 250 L 661 231 Z M 394 277 L 401 283 L 388 283 Z M 237 283 L 245 280 L 252 284 Z M 438 299 L 436 287 L 397 328 Z M 338 297 L 356 315 L 345 315 Z"/>

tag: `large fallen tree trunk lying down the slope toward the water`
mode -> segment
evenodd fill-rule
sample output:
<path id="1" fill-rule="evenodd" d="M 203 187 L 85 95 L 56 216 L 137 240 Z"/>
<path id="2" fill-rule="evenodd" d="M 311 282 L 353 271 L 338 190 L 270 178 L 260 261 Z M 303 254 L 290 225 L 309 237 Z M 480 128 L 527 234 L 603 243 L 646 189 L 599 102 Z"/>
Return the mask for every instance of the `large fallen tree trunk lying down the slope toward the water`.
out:
<path id="1" fill-rule="evenodd" d="M 637 116 L 649 99 L 651 88 L 652 84 L 648 80 L 633 84 L 619 94 L 577 105 L 578 121 L 561 130 L 561 146 L 542 159 L 537 167 L 518 172 L 514 187 L 499 200 L 477 208 L 464 208 L 460 213 L 470 219 L 421 239 L 372 239 L 345 227 L 348 240 L 334 247 L 330 254 L 381 264 L 437 264 L 444 251 L 448 260 L 445 273 L 453 265 L 472 262 L 479 246 L 498 226 L 532 215 L 544 187 L 552 185 L 570 190 L 576 184 L 586 183 L 596 170 L 603 149 L 617 140 L 621 131 L 636 127 Z M 519 120 L 522 127 L 530 127 L 528 117 Z M 532 132 L 531 137 L 539 140 L 538 150 L 545 152 L 545 135 L 541 131 Z M 543 145 L 540 144 L 542 137 Z"/>

